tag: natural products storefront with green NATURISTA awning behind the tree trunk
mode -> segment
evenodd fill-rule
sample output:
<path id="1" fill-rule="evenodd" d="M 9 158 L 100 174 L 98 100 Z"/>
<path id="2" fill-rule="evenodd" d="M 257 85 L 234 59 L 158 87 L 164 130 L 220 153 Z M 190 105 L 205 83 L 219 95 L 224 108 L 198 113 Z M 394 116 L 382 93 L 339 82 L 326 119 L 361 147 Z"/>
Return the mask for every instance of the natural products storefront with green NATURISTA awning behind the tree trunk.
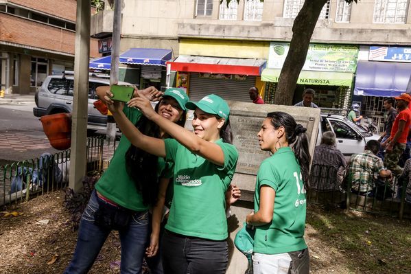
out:
<path id="1" fill-rule="evenodd" d="M 267 69 L 261 75 L 261 80 L 267 82 L 265 99 L 268 103 L 274 103 L 274 91 L 289 47 L 289 43 L 270 43 Z M 318 106 L 347 109 L 357 56 L 358 47 L 352 45 L 309 45 L 293 104 L 301 101 L 304 89 L 311 88 L 316 91 L 314 102 Z"/>

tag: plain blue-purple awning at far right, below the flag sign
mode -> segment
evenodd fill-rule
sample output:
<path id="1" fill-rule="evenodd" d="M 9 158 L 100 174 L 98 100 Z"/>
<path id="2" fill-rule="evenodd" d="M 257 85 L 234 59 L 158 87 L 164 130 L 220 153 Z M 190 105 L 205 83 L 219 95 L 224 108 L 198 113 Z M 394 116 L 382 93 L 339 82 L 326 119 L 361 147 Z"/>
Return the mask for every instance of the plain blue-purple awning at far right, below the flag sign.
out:
<path id="1" fill-rule="evenodd" d="M 358 61 L 355 95 L 394 97 L 406 92 L 411 64 Z"/>

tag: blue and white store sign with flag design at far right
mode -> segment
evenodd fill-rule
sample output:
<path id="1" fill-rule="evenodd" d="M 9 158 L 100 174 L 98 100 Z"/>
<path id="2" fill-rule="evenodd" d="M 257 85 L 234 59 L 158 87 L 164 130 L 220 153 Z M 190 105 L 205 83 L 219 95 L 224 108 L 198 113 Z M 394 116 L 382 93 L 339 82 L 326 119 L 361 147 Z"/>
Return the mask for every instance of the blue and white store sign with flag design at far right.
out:
<path id="1" fill-rule="evenodd" d="M 411 47 L 371 46 L 368 60 L 388 62 L 411 62 Z"/>

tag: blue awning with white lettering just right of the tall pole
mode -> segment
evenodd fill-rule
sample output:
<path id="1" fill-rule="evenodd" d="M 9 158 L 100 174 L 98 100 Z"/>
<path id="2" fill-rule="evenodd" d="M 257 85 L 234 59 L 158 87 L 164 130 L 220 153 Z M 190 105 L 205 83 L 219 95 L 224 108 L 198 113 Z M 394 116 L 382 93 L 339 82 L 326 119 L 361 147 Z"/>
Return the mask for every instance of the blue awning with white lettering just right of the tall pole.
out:
<path id="1" fill-rule="evenodd" d="M 132 48 L 120 54 L 122 64 L 165 66 L 165 62 L 172 58 L 173 52 L 169 49 L 141 49 Z"/>

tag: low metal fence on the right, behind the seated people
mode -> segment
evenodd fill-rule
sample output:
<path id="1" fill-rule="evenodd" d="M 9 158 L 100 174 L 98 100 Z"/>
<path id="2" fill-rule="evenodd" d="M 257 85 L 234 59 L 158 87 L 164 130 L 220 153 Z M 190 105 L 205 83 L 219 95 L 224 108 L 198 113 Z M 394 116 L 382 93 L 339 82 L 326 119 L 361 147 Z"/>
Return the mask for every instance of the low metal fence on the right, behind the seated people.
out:
<path id="1" fill-rule="evenodd" d="M 397 181 L 374 180 L 373 184 L 352 185 L 350 176 L 338 181 L 337 170 L 331 166 L 312 167 L 312 187 L 309 203 L 338 206 L 373 214 L 411 218 L 411 203 L 406 201 L 408 179 L 401 185 Z M 371 187 L 372 186 L 372 187 Z"/>

